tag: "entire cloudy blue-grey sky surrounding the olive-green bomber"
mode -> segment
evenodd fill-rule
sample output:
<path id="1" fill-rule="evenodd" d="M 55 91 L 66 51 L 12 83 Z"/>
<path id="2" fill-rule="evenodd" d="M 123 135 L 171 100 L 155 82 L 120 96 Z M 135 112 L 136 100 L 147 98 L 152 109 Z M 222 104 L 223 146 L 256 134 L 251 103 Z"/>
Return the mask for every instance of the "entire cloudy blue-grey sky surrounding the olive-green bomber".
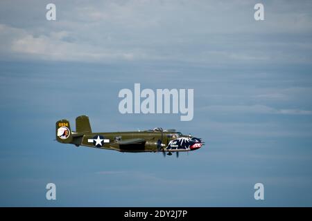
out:
<path id="1" fill-rule="evenodd" d="M 0 2 L 0 206 L 312 206 L 311 1 L 53 1 L 55 21 L 48 3 Z M 135 83 L 193 89 L 193 119 L 121 114 Z M 78 115 L 206 145 L 176 158 L 55 142 Z"/>

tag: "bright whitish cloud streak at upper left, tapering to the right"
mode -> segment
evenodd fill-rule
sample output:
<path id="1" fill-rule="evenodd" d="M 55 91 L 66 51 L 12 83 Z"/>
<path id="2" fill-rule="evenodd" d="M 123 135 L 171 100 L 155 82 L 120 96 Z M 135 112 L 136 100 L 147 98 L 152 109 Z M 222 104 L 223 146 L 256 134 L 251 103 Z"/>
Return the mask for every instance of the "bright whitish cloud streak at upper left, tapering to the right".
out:
<path id="1" fill-rule="evenodd" d="M 12 52 L 18 55 L 31 56 L 46 60 L 63 60 L 63 61 L 101 61 L 110 59 L 134 59 L 135 54 L 128 51 L 116 51 L 105 48 L 97 48 L 89 44 L 79 44 L 78 42 L 64 41 L 65 37 L 69 37 L 69 32 L 51 32 L 50 35 L 34 35 L 28 34 L 24 30 L 18 28 L 10 28 L 1 26 L 6 32 L 14 30 L 15 39 L 10 41 Z"/>

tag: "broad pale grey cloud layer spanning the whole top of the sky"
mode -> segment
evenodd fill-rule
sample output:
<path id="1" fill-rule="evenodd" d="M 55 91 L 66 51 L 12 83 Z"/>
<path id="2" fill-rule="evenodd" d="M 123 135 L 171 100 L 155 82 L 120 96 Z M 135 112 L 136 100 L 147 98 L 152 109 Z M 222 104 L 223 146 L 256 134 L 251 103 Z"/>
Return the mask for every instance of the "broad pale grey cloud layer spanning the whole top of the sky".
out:
<path id="1" fill-rule="evenodd" d="M 6 45 L 0 52 L 2 57 L 60 61 L 311 63 L 306 48 L 312 44 L 302 39 L 312 31 L 312 16 L 304 7 L 309 2 L 295 7 L 284 1 L 267 3 L 263 22 L 253 20 L 255 2 L 55 1 L 62 9 L 57 21 L 46 21 L 45 8 L 40 10 L 35 1 L 27 8 L 3 3 L 1 26 L 7 33 L 0 34 Z M 298 37 L 288 39 L 294 31 Z"/>

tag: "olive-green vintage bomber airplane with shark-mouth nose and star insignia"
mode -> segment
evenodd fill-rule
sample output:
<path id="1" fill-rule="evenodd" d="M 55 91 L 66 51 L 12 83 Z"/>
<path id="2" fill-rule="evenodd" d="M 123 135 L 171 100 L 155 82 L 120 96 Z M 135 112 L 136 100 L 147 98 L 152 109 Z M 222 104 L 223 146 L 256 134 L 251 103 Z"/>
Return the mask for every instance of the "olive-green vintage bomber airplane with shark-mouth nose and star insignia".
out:
<path id="1" fill-rule="evenodd" d="M 76 118 L 76 131 L 71 131 L 67 119 L 60 119 L 55 124 L 56 140 L 62 144 L 74 144 L 102 148 L 120 152 L 162 152 L 164 156 L 173 152 L 195 151 L 205 145 L 200 138 L 182 135 L 175 129 L 154 128 L 146 131 L 93 133 L 89 117 L 81 115 Z"/>

